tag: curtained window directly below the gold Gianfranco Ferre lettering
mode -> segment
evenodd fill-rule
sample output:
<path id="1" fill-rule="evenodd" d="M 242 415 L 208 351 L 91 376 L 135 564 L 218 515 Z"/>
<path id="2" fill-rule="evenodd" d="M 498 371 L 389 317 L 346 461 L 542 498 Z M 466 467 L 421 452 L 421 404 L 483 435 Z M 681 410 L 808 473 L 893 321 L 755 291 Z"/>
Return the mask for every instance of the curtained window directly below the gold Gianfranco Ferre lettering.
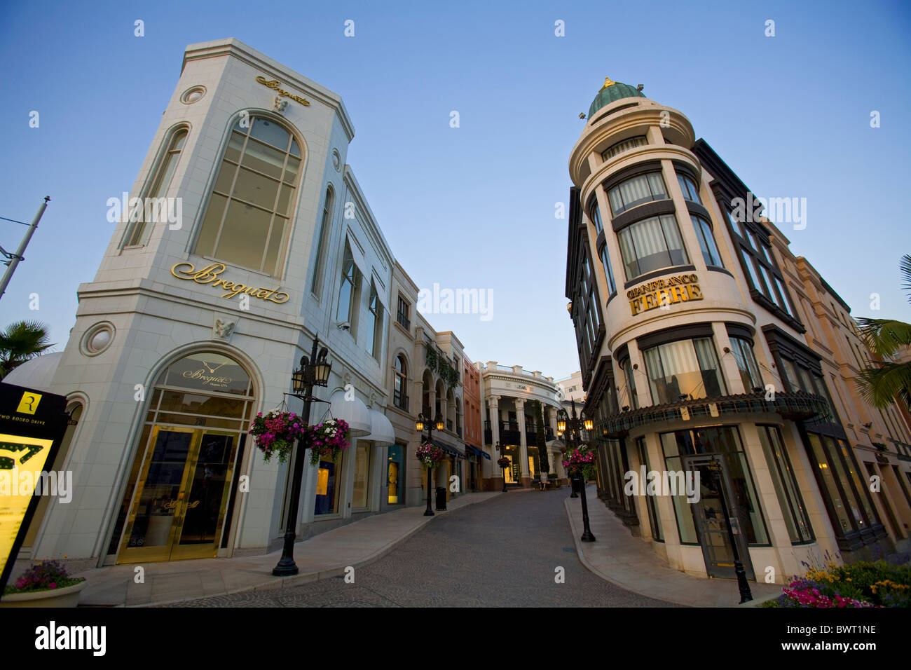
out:
<path id="1" fill-rule="evenodd" d="M 680 340 L 642 351 L 656 405 L 725 394 L 711 337 Z"/>

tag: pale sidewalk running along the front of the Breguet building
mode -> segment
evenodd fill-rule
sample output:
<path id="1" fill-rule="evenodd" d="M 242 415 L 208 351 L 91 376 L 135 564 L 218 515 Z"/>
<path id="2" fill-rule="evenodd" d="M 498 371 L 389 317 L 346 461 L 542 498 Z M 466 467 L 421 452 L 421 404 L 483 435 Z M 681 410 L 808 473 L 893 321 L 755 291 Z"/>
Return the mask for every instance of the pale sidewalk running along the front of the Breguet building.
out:
<path id="1" fill-rule="evenodd" d="M 448 510 L 484 502 L 499 491 L 466 493 L 446 503 Z M 297 586 L 344 574 L 347 566 L 363 567 L 382 558 L 388 551 L 420 531 L 446 511 L 425 517 L 425 507 L 374 514 L 326 531 L 294 545 L 294 562 L 300 572 L 293 577 L 273 577 L 272 568 L 281 551 L 258 556 L 201 559 L 193 561 L 150 562 L 144 564 L 145 582 L 133 581 L 136 565 L 108 565 L 85 572 L 88 585 L 80 605 L 134 607 L 204 598 L 212 595 L 267 591 Z"/>

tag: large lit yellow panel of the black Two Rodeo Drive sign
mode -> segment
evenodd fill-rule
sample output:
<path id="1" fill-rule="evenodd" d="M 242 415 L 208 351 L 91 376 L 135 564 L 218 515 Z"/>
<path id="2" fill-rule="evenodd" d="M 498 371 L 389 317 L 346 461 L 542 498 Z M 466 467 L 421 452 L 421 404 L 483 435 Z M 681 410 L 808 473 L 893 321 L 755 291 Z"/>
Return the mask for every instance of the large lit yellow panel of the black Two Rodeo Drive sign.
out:
<path id="1" fill-rule="evenodd" d="M 0 569 L 5 568 L 5 559 L 13 551 L 28 503 L 32 501 L 34 486 L 20 484 L 41 480 L 53 443 L 51 439 L 0 433 Z"/>

